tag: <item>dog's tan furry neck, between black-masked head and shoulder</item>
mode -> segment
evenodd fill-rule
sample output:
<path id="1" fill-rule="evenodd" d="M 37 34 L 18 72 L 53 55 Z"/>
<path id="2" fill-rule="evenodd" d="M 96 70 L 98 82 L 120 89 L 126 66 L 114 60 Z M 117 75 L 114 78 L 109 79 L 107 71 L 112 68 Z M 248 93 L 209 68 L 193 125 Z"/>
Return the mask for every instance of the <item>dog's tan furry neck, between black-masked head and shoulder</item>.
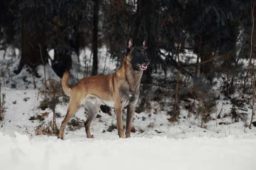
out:
<path id="1" fill-rule="evenodd" d="M 131 61 L 125 56 L 122 68 L 120 69 L 125 72 L 125 79 L 129 84 L 130 91 L 135 92 L 140 90 L 140 80 L 143 74 L 142 70 L 134 70 Z"/>

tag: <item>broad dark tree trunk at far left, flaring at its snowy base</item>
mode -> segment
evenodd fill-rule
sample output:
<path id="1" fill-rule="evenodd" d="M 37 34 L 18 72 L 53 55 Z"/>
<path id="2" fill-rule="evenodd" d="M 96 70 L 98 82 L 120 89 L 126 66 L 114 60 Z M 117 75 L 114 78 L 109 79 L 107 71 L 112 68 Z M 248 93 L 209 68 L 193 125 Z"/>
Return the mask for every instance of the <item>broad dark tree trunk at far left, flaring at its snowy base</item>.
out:
<path id="1" fill-rule="evenodd" d="M 27 31 L 25 28 L 21 30 L 21 59 L 18 69 L 15 71 L 16 74 L 19 74 L 22 68 L 27 65 L 32 69 L 32 72 L 35 73 L 35 76 L 38 77 L 38 73 L 35 68 L 38 65 L 43 64 L 41 59 L 40 48 L 38 43 L 42 48 L 42 57 L 44 62 L 48 62 L 48 52 L 47 46 L 45 44 L 45 36 L 40 31 Z"/>

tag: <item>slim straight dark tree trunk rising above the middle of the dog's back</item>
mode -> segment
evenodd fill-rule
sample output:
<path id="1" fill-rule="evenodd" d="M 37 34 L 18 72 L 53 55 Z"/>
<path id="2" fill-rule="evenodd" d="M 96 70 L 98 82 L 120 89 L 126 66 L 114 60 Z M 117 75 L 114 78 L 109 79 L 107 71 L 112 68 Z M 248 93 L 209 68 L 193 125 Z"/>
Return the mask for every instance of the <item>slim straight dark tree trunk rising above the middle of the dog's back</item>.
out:
<path id="1" fill-rule="evenodd" d="M 94 14 L 93 14 L 93 72 L 92 75 L 98 73 L 98 11 L 99 0 L 94 1 Z"/>

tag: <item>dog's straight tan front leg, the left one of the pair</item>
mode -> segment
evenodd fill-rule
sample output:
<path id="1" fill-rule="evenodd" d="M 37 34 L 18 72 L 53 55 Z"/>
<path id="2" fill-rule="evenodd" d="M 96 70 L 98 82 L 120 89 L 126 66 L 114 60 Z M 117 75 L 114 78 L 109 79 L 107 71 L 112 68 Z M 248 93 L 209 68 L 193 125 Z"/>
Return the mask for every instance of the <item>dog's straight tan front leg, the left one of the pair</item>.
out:
<path id="1" fill-rule="evenodd" d="M 120 138 L 125 138 L 124 127 L 122 125 L 122 104 L 120 101 L 115 101 L 115 111 L 117 120 L 117 130 Z"/>

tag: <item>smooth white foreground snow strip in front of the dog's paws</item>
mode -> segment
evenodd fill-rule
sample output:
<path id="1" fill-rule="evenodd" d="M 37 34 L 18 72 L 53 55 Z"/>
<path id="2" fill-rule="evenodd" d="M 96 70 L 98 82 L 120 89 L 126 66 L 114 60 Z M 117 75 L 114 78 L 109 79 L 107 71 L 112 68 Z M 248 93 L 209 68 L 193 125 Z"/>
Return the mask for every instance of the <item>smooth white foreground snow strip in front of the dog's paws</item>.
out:
<path id="1" fill-rule="evenodd" d="M 192 137 L 189 139 L 29 139 L 0 133 L 0 166 L 9 170 L 249 170 L 254 139 Z"/>

